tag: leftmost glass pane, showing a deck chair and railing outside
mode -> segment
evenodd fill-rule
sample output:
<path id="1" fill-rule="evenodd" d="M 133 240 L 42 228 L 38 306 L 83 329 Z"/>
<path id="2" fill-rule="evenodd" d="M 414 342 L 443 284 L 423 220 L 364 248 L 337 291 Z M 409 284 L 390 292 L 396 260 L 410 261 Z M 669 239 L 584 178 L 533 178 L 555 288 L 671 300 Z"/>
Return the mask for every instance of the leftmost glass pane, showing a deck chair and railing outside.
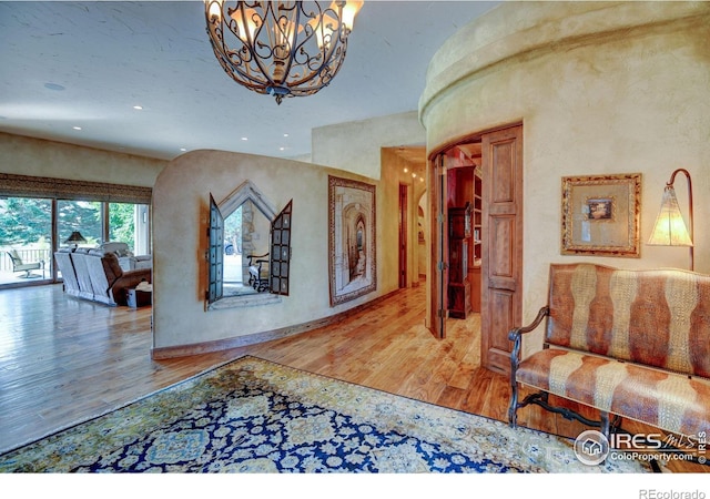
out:
<path id="1" fill-rule="evenodd" d="M 51 200 L 0 198 L 0 284 L 51 278 Z"/>

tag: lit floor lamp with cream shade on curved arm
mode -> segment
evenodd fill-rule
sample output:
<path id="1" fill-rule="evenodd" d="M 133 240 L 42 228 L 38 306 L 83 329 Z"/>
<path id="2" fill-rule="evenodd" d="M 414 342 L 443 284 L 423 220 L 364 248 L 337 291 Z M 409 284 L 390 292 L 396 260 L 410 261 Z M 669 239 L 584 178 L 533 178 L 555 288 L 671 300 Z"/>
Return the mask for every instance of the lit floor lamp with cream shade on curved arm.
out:
<path id="1" fill-rule="evenodd" d="M 676 197 L 676 190 L 673 189 L 673 182 L 676 181 L 676 174 L 682 173 L 688 177 L 688 204 L 690 223 L 690 230 L 686 226 L 683 216 L 680 213 L 678 206 L 678 197 Z M 661 211 L 656 218 L 656 225 L 653 225 L 653 232 L 648 240 L 648 244 L 653 246 L 687 246 L 690 248 L 690 269 L 694 271 L 693 254 L 692 254 L 692 183 L 690 181 L 690 173 L 687 170 L 678 169 L 670 176 L 670 180 L 666 183 L 666 190 L 663 191 L 663 197 L 661 200 Z"/>

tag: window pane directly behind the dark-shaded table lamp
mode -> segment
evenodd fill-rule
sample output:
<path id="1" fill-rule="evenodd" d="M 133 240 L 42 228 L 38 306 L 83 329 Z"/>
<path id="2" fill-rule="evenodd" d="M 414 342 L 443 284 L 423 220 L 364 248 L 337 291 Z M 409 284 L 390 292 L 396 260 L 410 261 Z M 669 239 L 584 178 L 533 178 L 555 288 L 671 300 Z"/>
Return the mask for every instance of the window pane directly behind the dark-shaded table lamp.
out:
<path id="1" fill-rule="evenodd" d="M 98 201 L 57 202 L 60 246 L 94 247 L 101 244 L 101 203 Z M 79 232 L 85 242 L 67 242 L 73 232 Z"/>

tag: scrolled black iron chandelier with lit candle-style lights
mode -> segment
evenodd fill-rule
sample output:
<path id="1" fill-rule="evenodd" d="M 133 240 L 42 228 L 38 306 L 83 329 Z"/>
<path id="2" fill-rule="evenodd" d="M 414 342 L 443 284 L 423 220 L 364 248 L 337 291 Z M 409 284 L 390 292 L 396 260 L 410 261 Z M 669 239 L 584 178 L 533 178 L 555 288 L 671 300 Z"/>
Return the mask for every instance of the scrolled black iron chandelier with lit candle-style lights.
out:
<path id="1" fill-rule="evenodd" d="M 205 0 L 205 17 L 224 71 L 281 104 L 285 96 L 312 95 L 331 83 L 345 60 L 362 4 Z"/>

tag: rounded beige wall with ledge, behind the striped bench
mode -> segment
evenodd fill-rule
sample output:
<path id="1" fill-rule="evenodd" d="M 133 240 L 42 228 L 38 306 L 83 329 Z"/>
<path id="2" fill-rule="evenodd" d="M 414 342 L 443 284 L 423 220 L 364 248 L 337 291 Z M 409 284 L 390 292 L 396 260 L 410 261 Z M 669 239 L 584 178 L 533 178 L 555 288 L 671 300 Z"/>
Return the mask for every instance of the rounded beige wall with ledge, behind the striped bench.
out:
<path id="1" fill-rule="evenodd" d="M 710 2 L 505 3 L 437 52 L 419 101 L 427 147 L 524 123 L 524 320 L 552 262 L 688 268 L 646 245 L 670 174 L 693 177 L 696 271 L 710 273 Z M 560 255 L 565 175 L 642 173 L 641 256 Z M 686 181 L 676 191 L 687 213 Z M 541 332 L 540 332 L 541 333 Z M 525 345 L 539 348 L 541 334 Z"/>

